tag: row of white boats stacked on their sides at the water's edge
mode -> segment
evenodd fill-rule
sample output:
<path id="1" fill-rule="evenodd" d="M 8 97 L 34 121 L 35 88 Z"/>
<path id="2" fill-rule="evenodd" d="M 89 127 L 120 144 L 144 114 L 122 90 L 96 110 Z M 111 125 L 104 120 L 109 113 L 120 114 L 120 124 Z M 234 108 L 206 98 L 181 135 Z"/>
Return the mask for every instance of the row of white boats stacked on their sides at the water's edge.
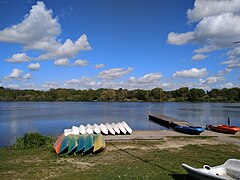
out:
<path id="1" fill-rule="evenodd" d="M 72 126 L 71 129 L 64 129 L 64 134 L 67 135 L 84 135 L 84 134 L 103 134 L 103 135 L 118 135 L 118 134 L 132 134 L 132 129 L 129 125 L 122 121 L 118 123 L 106 124 L 87 124 L 86 126 L 80 125 Z"/>

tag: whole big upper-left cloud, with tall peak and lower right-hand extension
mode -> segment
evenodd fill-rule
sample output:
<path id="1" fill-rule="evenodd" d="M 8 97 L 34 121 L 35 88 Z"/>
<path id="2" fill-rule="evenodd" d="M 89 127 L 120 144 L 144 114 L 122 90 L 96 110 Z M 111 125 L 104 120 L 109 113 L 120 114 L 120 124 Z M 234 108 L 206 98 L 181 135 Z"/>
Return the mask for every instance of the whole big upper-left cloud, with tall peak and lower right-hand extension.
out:
<path id="1" fill-rule="evenodd" d="M 52 14 L 52 10 L 46 9 L 44 2 L 37 2 L 21 23 L 0 31 L 0 42 L 17 43 L 23 45 L 25 50 L 43 52 L 39 57 L 32 58 L 33 60 L 70 58 L 80 51 L 91 49 L 86 34 L 81 35 L 75 42 L 67 39 L 62 44 L 57 39 L 62 31 L 61 25 Z M 8 61 L 15 62 L 15 59 L 10 58 Z"/>

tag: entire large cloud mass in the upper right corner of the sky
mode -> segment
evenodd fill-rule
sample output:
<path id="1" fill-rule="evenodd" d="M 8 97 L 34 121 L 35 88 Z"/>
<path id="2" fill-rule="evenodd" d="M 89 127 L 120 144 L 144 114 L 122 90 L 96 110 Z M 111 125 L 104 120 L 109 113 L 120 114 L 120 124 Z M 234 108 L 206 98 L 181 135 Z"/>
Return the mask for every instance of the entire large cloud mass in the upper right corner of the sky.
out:
<path id="1" fill-rule="evenodd" d="M 189 20 L 197 21 L 195 30 L 171 32 L 167 42 L 175 45 L 199 44 L 201 47 L 195 50 L 196 53 L 231 48 L 236 37 L 240 36 L 239 7 L 240 2 L 236 0 L 196 0 L 194 8 L 188 10 Z"/>

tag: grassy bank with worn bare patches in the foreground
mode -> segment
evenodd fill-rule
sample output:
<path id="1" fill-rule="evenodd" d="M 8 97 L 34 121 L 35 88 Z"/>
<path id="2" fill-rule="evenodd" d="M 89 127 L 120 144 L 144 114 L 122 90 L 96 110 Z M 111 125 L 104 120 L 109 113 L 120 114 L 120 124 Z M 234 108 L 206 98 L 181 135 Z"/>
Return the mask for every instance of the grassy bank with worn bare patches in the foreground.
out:
<path id="1" fill-rule="evenodd" d="M 174 147 L 191 141 L 201 143 Z M 239 146 L 211 142 L 215 139 L 112 141 L 93 156 L 57 156 L 51 147 L 0 148 L 0 175 L 1 179 L 188 179 L 182 163 L 202 167 L 240 159 Z"/>

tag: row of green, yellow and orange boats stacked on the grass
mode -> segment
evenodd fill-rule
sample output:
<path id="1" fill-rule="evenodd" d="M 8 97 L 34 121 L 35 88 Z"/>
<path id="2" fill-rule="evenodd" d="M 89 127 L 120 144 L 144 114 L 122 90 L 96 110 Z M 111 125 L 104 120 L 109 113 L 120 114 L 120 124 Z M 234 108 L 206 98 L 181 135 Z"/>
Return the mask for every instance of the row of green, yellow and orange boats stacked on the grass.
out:
<path id="1" fill-rule="evenodd" d="M 106 144 L 102 134 L 62 134 L 53 146 L 57 155 L 59 154 L 95 154 L 105 149 Z"/>

